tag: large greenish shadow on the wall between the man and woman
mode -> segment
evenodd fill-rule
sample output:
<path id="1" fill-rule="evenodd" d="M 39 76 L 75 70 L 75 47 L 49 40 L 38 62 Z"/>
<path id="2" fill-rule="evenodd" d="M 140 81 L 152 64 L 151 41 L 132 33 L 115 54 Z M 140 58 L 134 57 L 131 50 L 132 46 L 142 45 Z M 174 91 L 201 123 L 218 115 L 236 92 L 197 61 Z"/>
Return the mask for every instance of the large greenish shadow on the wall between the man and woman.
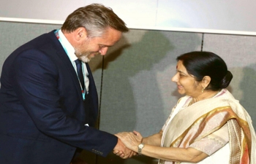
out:
<path id="1" fill-rule="evenodd" d="M 104 60 L 100 129 L 110 133 L 135 130 L 140 111 L 148 110 L 145 106 L 150 106 L 150 104 L 156 106 L 157 104 L 158 109 L 163 108 L 157 87 L 157 75 L 151 69 L 173 47 L 166 36 L 159 31 L 147 31 L 146 33 L 133 31 L 129 35 L 132 35 L 131 38 L 138 37 L 138 35 L 142 37 L 138 42 L 132 43 L 129 43 L 129 38 L 124 37 L 115 45 L 115 48 L 118 47 L 118 49 L 106 55 Z M 124 50 L 124 48 L 126 49 Z M 114 63 L 111 63 L 112 61 Z M 97 66 L 97 68 L 99 67 Z M 132 79 L 136 78 L 138 74 L 145 77 L 137 77 L 138 82 L 132 84 Z M 150 90 L 146 90 L 146 87 Z M 148 99 L 151 96 L 148 93 L 154 93 L 154 99 Z M 159 111 L 152 117 L 162 116 L 163 113 Z M 147 115 L 144 115 L 141 119 L 147 120 L 146 117 Z M 135 157 L 122 160 L 113 154 L 108 155 L 107 158 L 99 157 L 98 160 L 97 164 L 151 163 L 150 158 Z"/>

